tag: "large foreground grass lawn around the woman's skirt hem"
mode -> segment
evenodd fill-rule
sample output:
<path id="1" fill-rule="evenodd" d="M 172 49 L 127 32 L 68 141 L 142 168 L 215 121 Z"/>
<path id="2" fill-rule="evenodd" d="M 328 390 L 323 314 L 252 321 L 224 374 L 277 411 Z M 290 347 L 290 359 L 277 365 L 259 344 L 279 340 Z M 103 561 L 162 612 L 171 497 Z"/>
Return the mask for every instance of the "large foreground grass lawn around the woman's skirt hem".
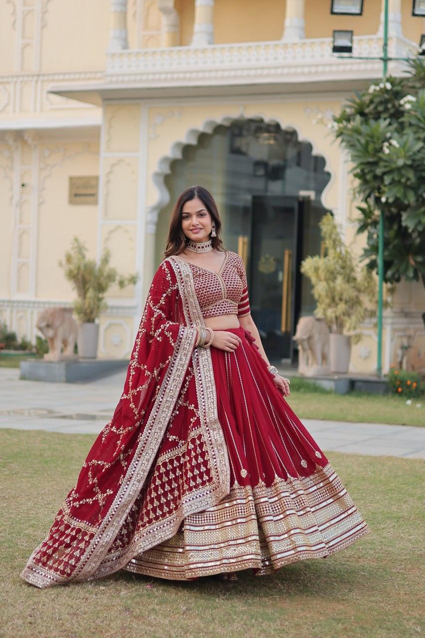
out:
<path id="1" fill-rule="evenodd" d="M 425 464 L 328 454 L 371 533 L 269 577 L 191 583 L 120 572 L 38 590 L 19 573 L 77 479 L 91 435 L 0 431 L 4 501 L 0 635 L 7 638 L 408 638 L 424 635 L 420 501 Z M 422 474 L 422 480 L 421 480 Z"/>

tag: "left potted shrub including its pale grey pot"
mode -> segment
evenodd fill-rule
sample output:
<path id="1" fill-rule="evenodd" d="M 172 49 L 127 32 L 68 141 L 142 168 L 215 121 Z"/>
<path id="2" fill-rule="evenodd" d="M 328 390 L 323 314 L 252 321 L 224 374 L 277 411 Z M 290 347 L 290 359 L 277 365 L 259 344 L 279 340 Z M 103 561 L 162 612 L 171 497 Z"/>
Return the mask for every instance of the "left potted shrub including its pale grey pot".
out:
<path id="1" fill-rule="evenodd" d="M 59 262 L 66 279 L 77 292 L 73 311 L 78 320 L 78 355 L 95 359 L 98 350 L 99 324 L 96 319 L 107 308 L 105 295 L 113 283 L 119 288 L 135 284 L 137 274 L 123 276 L 109 265 L 110 251 L 105 249 L 98 263 L 87 258 L 87 248 L 74 237 L 71 249 Z"/>

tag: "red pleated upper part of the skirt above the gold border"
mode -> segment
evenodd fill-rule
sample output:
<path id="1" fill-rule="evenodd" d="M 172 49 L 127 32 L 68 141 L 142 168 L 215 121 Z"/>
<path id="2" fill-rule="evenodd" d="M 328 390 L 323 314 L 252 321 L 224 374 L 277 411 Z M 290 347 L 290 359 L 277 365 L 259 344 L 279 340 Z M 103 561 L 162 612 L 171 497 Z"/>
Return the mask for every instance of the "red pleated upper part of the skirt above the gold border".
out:
<path id="1" fill-rule="evenodd" d="M 271 486 L 276 477 L 306 477 L 328 463 L 274 385 L 267 364 L 242 327 L 233 352 L 211 348 L 218 419 L 226 438 L 231 484 Z"/>

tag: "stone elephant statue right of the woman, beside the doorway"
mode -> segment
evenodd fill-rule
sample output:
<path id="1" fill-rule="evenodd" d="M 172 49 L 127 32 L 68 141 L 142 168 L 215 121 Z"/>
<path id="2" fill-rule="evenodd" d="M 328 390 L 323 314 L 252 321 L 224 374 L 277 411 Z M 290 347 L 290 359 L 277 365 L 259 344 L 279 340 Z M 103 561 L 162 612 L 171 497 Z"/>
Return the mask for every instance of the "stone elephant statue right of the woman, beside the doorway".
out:
<path id="1" fill-rule="evenodd" d="M 298 370 L 302 375 L 329 372 L 329 328 L 323 319 L 300 317 L 294 341 L 298 345 Z"/>

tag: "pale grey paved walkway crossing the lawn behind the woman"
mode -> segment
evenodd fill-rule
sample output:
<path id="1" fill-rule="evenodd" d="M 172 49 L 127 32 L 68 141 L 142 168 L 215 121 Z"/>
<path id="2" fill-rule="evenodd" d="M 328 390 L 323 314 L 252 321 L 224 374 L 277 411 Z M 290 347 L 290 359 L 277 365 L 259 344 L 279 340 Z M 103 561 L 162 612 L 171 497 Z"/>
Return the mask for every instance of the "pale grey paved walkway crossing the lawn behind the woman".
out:
<path id="1" fill-rule="evenodd" d="M 89 383 L 20 381 L 0 368 L 0 427 L 98 434 L 112 417 L 126 371 Z M 325 451 L 425 459 L 425 427 L 303 419 Z"/>

